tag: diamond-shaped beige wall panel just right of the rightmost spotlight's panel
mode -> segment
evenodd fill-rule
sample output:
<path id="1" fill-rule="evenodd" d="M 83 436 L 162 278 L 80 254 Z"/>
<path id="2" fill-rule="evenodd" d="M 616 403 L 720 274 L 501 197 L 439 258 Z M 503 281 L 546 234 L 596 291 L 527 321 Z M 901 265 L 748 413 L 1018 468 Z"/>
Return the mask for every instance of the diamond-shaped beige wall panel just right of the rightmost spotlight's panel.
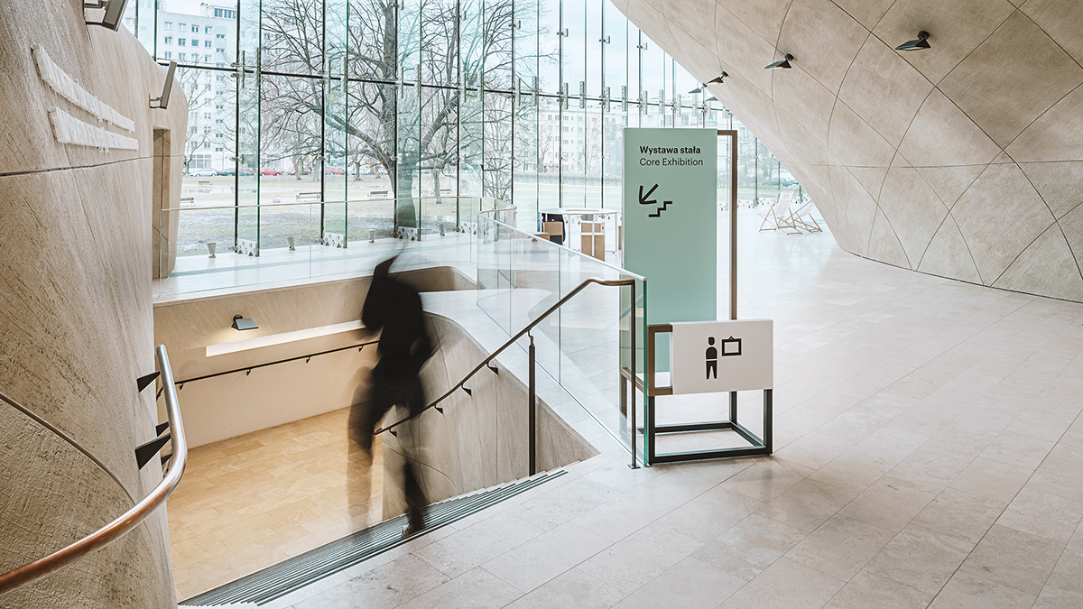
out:
<path id="1" fill-rule="evenodd" d="M 1083 68 L 1034 22 L 1015 13 L 939 87 L 994 142 L 1006 146 L 1081 82 Z"/>

